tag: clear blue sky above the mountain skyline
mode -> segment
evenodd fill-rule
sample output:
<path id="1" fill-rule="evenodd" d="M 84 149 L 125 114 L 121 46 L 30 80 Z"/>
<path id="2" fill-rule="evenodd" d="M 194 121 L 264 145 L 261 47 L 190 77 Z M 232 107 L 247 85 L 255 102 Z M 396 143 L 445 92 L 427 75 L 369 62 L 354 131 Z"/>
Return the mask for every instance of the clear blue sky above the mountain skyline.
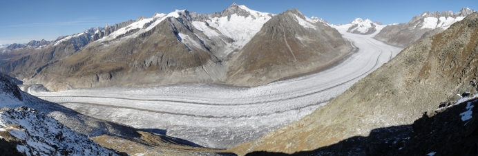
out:
<path id="1" fill-rule="evenodd" d="M 349 23 L 357 17 L 384 24 L 405 23 L 422 12 L 458 12 L 461 8 L 477 10 L 476 0 L 414 1 L 252 1 L 252 0 L 182 0 L 182 1 L 1 1 L 0 44 L 27 43 L 31 40 L 55 40 L 83 32 L 90 27 L 113 25 L 138 16 L 169 13 L 175 9 L 190 12 L 221 12 L 233 2 L 260 12 L 279 14 L 298 8 L 305 16 L 318 16 L 332 24 Z"/>

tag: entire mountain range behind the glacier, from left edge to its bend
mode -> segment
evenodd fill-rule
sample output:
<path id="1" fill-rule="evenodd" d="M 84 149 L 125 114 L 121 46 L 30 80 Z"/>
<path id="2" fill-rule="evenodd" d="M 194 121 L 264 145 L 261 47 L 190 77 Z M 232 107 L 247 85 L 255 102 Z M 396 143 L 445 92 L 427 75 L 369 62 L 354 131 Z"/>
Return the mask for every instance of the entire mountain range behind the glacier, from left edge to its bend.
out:
<path id="1" fill-rule="evenodd" d="M 12 44 L 3 49 L 0 71 L 52 91 L 180 82 L 254 86 L 321 70 L 351 49 L 323 19 L 233 3 L 212 14 L 175 10 L 55 41 Z"/>

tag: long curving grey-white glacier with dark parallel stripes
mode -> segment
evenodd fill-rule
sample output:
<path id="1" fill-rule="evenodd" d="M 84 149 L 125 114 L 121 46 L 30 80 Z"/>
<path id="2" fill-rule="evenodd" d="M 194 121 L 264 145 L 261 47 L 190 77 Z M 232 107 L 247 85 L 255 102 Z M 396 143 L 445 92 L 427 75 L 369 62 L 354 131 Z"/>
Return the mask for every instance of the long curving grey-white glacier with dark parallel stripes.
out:
<path id="1" fill-rule="evenodd" d="M 325 71 L 259 87 L 169 85 L 108 87 L 48 92 L 25 88 L 44 100 L 95 118 L 164 132 L 211 148 L 256 140 L 323 107 L 354 82 L 388 62 L 401 48 L 370 35 L 337 28 L 356 47 L 349 58 Z M 377 31 L 379 32 L 379 30 Z"/>

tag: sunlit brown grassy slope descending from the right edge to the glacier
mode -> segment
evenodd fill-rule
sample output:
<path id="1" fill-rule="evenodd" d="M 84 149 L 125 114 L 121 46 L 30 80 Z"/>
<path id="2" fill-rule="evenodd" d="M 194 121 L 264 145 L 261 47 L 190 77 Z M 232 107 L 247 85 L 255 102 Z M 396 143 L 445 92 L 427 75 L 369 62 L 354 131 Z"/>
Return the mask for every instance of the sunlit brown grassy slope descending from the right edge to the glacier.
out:
<path id="1" fill-rule="evenodd" d="M 403 49 L 326 107 L 231 151 L 310 151 L 367 136 L 372 129 L 412 124 L 421 112 L 457 98 L 457 93 L 477 93 L 477 55 L 478 14 L 473 13 Z"/>

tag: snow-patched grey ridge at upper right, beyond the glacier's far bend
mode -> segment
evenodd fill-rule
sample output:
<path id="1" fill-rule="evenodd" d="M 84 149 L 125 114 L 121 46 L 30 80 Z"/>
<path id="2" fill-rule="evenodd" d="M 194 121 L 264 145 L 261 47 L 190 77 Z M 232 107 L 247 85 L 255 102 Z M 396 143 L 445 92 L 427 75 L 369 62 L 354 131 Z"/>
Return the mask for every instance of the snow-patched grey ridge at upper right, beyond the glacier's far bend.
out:
<path id="1" fill-rule="evenodd" d="M 423 12 L 419 16 L 414 16 L 408 23 L 387 25 L 379 34 L 376 34 L 375 38 L 397 47 L 408 47 L 423 38 L 446 30 L 452 23 L 461 21 L 472 12 L 475 10 L 469 8 L 463 8 L 457 13 Z"/>

